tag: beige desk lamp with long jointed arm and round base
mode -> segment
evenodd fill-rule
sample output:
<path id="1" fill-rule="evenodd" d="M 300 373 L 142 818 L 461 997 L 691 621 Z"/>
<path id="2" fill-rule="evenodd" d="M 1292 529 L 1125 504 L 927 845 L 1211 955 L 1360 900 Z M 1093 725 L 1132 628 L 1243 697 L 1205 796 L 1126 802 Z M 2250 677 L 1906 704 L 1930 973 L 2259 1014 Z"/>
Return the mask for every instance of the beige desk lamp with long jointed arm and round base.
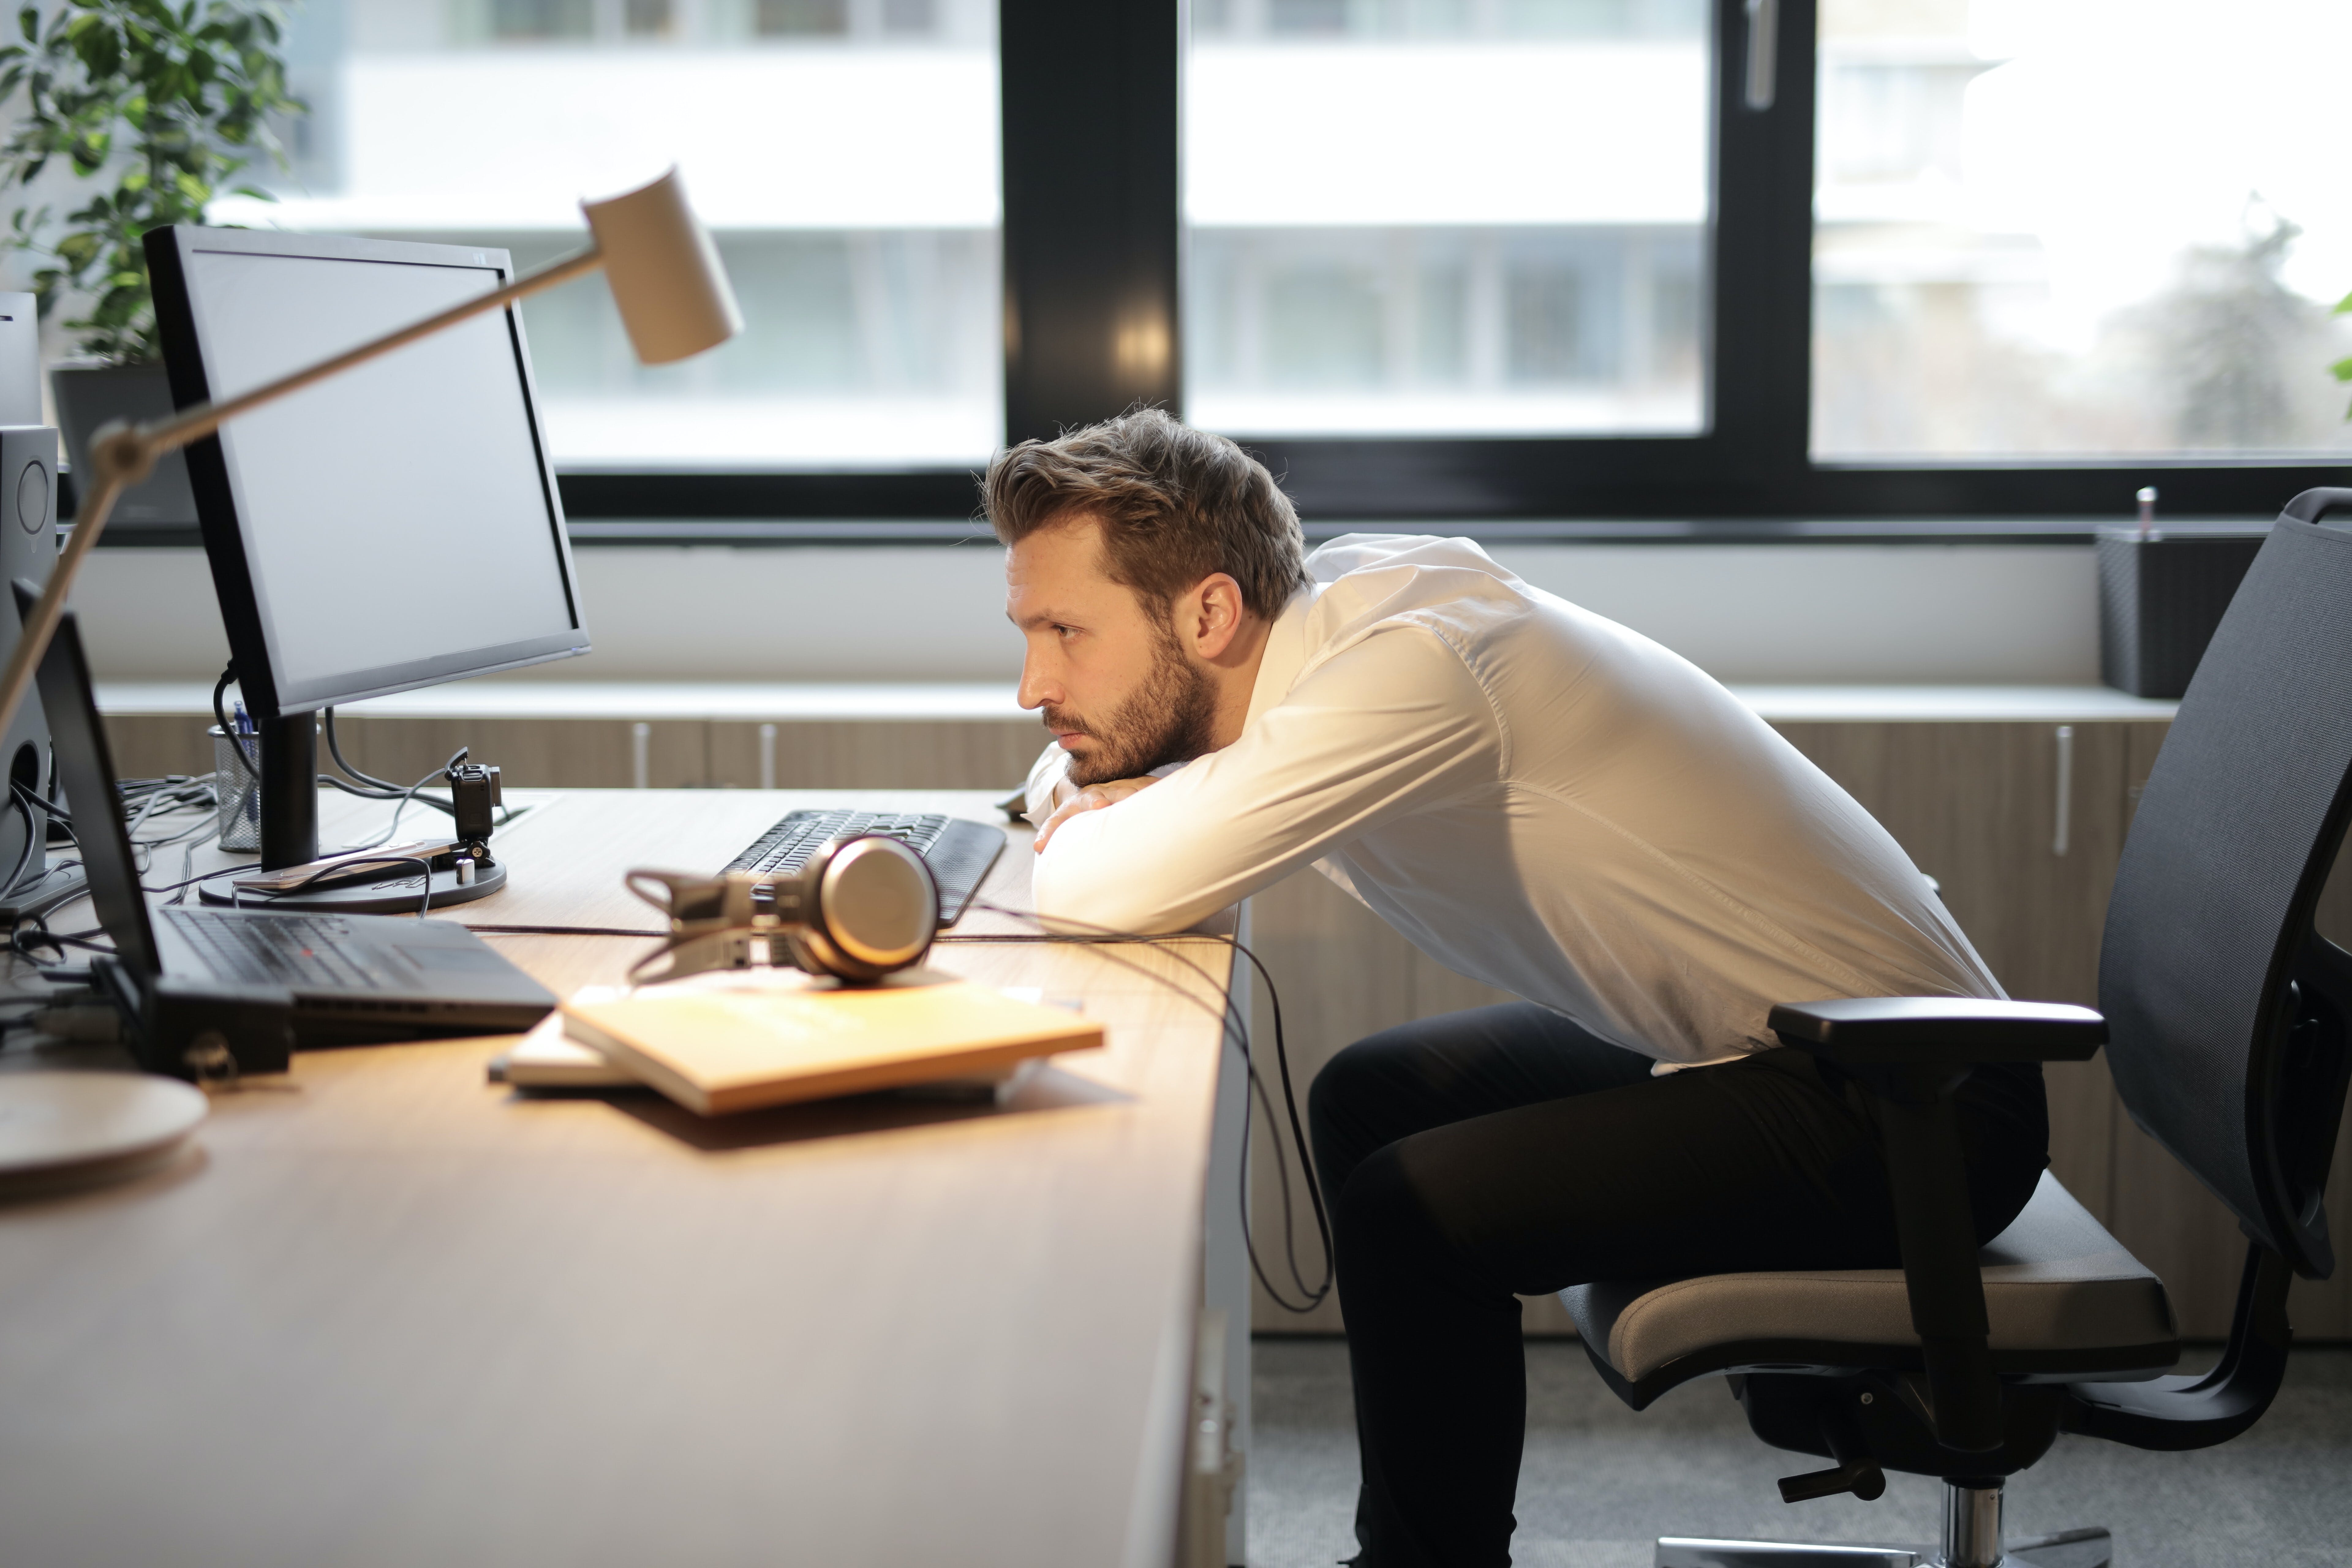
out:
<path id="1" fill-rule="evenodd" d="M 115 421 L 99 430 L 89 442 L 92 487 L 80 520 L 0 672 L 0 733 L 33 684 L 73 578 L 106 529 L 115 498 L 146 480 L 167 451 L 212 435 L 240 414 L 595 268 L 604 268 L 630 348 L 644 364 L 687 360 L 743 329 L 717 247 L 687 207 L 677 169 L 626 195 L 581 202 L 581 212 L 595 242 L 579 256 L 249 393 L 183 409 L 174 418 L 141 425 Z M 169 1159 L 202 1117 L 205 1095 L 169 1079 L 120 1072 L 0 1074 L 0 1192 L 139 1175 Z"/>

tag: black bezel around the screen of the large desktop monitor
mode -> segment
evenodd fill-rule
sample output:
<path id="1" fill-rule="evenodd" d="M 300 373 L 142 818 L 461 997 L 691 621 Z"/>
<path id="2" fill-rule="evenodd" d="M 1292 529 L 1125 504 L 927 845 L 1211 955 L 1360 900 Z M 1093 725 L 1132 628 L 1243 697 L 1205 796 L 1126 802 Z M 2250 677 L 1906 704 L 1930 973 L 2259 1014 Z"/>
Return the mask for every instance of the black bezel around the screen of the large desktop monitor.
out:
<path id="1" fill-rule="evenodd" d="M 162 339 L 165 367 L 172 378 L 172 402 L 181 409 L 212 397 L 202 353 L 202 308 L 188 289 L 188 261 L 198 252 L 242 252 L 254 256 L 289 256 L 313 261 L 395 261 L 412 266 L 456 266 L 473 273 L 487 270 L 499 277 L 496 287 L 513 282 L 515 266 L 508 252 L 492 244 L 433 244 L 421 240 L 362 240 L 350 235 L 306 235 L 256 228 L 198 228 L 174 226 L 146 233 L 148 277 L 155 289 L 155 327 Z M 390 691 L 414 691 L 437 686 L 473 675 L 496 675 L 520 670 L 550 658 L 574 658 L 590 649 L 588 618 L 581 614 L 579 571 L 572 562 L 572 538 L 564 529 L 564 503 L 555 484 L 555 461 L 548 451 L 548 435 L 539 411 L 539 383 L 532 374 L 532 350 L 522 331 L 522 313 L 506 306 L 508 346 L 515 355 L 515 374 L 522 383 L 522 404 L 529 416 L 532 444 L 539 461 L 539 487 L 546 501 L 548 531 L 555 543 L 557 569 L 564 583 L 564 607 L 572 614 L 569 632 L 524 637 L 517 642 L 414 658 L 395 665 L 346 670 L 327 679 L 287 682 L 280 677 L 275 646 L 263 616 L 261 597 L 247 559 L 247 536 L 240 520 L 238 487 L 230 480 L 221 442 L 207 435 L 188 447 L 188 482 L 195 489 L 198 527 L 205 538 L 205 557 L 212 564 L 212 588 L 221 602 L 221 625 L 228 632 L 228 651 L 235 658 L 238 686 L 254 717 L 289 717 L 315 712 L 339 703 L 358 703 Z M 294 393 L 301 397 L 301 393 Z M 449 562 L 452 571 L 463 571 L 463 562 Z"/>

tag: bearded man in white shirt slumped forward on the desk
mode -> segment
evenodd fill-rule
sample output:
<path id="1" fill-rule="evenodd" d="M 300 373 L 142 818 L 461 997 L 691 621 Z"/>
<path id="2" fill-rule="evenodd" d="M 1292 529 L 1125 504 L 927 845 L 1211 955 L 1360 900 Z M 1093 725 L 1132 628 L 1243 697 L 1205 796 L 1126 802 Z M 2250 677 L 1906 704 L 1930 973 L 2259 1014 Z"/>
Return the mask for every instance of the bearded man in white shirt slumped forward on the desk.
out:
<path id="1" fill-rule="evenodd" d="M 1357 1563 L 1505 1563 L 1517 1295 L 1898 1260 L 1877 1131 L 1776 1001 L 1999 997 L 1891 837 L 1668 649 L 1456 538 L 1303 559 L 1263 465 L 1160 411 L 988 470 L 1047 919 L 1178 931 L 1315 865 L 1522 1004 L 1388 1030 L 1310 1093 L 1355 1373 Z M 2039 1067 L 1962 1091 L 1978 1232 Z"/>

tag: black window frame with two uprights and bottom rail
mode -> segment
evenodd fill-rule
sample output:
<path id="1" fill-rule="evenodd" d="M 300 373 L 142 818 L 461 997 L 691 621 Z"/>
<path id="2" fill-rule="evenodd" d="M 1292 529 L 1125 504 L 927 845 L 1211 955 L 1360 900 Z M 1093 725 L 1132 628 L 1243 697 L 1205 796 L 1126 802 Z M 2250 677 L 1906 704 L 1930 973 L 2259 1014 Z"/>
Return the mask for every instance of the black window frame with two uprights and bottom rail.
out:
<path id="1" fill-rule="evenodd" d="M 1813 461 L 1816 0 L 1710 0 L 1708 430 L 1653 437 L 1237 437 L 1310 536 L 1444 524 L 1576 541 L 2086 541 L 2140 484 L 2169 517 L 2272 517 L 2343 484 L 2307 458 Z M 1773 101 L 1750 108 L 1750 16 L 1776 16 Z M 1183 0 L 997 0 L 1004 437 L 1183 409 Z M 1141 346 L 1141 348 L 1138 348 Z M 569 473 L 583 543 L 910 543 L 976 527 L 976 473 Z M 136 536 L 120 543 L 191 543 Z M 176 531 L 174 531 L 176 534 Z"/>

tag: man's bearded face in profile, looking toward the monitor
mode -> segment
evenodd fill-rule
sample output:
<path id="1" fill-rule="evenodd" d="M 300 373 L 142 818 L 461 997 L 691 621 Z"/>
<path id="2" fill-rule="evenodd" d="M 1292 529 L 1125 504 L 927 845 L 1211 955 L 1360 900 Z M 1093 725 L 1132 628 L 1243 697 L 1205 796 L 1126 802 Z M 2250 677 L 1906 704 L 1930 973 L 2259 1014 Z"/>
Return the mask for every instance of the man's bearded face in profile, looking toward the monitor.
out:
<path id="1" fill-rule="evenodd" d="M 1021 705 L 1044 710 L 1073 783 L 1138 778 L 1209 750 L 1209 675 L 1157 604 L 1103 574 L 1098 522 L 1037 529 L 1007 550 L 1004 614 L 1028 642 Z"/>

